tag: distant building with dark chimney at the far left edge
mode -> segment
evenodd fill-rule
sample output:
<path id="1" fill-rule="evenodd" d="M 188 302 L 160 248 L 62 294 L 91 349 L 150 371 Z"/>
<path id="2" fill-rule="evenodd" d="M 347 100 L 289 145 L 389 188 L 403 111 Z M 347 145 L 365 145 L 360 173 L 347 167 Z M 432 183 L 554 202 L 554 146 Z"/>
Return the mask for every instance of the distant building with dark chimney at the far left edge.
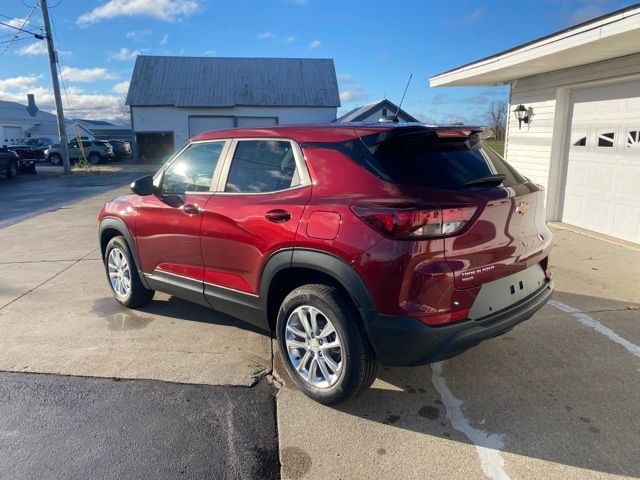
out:
<path id="1" fill-rule="evenodd" d="M 41 123 L 52 122 L 55 125 L 56 116 L 43 112 L 36 106 L 35 97 L 27 95 L 27 105 L 17 102 L 0 100 L 0 145 L 9 145 L 25 138 L 27 131 Z M 58 138 L 57 129 L 46 132 L 43 137 Z"/>

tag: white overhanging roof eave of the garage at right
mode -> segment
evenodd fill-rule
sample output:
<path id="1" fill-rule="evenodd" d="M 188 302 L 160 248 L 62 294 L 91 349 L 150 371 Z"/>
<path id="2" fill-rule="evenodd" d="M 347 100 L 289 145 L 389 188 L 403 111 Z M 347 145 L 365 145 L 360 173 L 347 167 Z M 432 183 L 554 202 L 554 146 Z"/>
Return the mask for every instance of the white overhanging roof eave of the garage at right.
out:
<path id="1" fill-rule="evenodd" d="M 640 53 L 640 4 L 429 78 L 431 87 L 493 86 Z"/>

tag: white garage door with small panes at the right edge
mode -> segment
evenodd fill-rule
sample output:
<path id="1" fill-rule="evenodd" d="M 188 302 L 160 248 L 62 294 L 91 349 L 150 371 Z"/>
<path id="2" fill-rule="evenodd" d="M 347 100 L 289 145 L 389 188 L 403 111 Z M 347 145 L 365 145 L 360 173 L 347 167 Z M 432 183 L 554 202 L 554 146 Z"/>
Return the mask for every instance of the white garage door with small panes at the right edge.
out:
<path id="1" fill-rule="evenodd" d="M 640 243 L 640 81 L 576 90 L 562 221 Z"/>

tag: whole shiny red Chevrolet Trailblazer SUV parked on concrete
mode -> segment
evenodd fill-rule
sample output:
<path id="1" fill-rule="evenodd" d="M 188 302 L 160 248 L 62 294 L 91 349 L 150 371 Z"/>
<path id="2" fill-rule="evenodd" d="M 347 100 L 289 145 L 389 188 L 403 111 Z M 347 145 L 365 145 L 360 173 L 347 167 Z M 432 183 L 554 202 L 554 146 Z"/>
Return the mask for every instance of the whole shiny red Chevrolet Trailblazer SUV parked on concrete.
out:
<path id="1" fill-rule="evenodd" d="M 378 362 L 456 355 L 550 298 L 542 188 L 473 127 L 278 126 L 203 133 L 100 213 L 115 298 L 155 290 L 275 331 L 322 403 Z"/>

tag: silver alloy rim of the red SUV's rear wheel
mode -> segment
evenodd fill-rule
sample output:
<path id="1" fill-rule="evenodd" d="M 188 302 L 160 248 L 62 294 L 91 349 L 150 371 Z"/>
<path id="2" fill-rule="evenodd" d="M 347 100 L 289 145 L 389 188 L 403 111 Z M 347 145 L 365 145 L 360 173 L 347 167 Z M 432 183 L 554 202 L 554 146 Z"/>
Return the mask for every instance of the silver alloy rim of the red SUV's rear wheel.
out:
<path id="1" fill-rule="evenodd" d="M 331 320 L 317 308 L 303 305 L 291 313 L 285 345 L 291 365 L 309 385 L 329 388 L 340 378 L 342 342 Z"/>

